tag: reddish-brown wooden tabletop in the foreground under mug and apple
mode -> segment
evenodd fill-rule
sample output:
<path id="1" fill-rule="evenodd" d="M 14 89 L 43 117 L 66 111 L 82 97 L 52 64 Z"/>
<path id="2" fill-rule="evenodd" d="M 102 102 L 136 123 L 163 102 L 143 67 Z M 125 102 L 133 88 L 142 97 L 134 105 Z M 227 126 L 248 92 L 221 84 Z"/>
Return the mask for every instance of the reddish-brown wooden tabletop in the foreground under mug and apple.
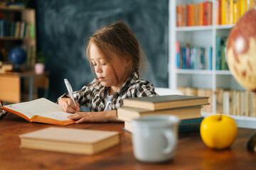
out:
<path id="1" fill-rule="evenodd" d="M 180 133 L 176 156 L 161 164 L 145 164 L 134 158 L 132 135 L 122 130 L 123 123 L 65 126 L 121 132 L 119 145 L 92 156 L 19 148 L 18 135 L 51 126 L 55 125 L 28 123 L 13 113 L 7 113 L 0 120 L 0 169 L 256 169 L 256 154 L 246 149 L 247 140 L 255 130 L 244 128 L 239 128 L 238 137 L 230 149 L 223 151 L 206 147 L 199 132 Z"/>

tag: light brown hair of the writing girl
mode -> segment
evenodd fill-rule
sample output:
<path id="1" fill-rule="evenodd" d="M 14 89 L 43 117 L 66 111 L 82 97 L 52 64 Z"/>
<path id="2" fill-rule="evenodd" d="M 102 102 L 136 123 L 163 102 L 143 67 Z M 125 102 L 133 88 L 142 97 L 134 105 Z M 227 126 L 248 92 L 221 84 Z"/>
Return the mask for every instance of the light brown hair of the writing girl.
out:
<path id="1" fill-rule="evenodd" d="M 95 45 L 97 51 L 105 57 L 107 63 L 112 67 L 112 56 L 122 57 L 126 60 L 132 60 L 130 68 L 127 70 L 127 77 L 129 77 L 133 72 L 138 75 L 142 71 L 142 60 L 146 61 L 146 56 L 139 46 L 139 42 L 135 37 L 132 30 L 123 22 L 118 21 L 110 26 L 105 26 L 97 30 L 96 33 L 92 35 L 89 40 L 86 49 L 87 59 L 91 62 L 90 57 L 90 47 Z M 92 69 L 92 64 L 90 64 Z M 117 70 L 112 67 L 114 76 L 117 82 L 120 81 L 117 77 Z M 124 77 L 127 79 L 127 77 Z"/>

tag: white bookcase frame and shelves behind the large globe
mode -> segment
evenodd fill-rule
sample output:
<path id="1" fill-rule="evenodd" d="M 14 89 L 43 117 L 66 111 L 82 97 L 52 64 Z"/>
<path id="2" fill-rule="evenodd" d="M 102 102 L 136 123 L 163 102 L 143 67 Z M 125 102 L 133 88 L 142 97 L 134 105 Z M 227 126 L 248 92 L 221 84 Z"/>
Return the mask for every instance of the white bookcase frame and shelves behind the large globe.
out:
<path id="1" fill-rule="evenodd" d="M 240 0 L 242 1 L 242 0 Z M 245 91 L 233 78 L 229 70 L 218 70 L 216 68 L 216 37 L 228 38 L 230 29 L 234 24 L 218 25 L 215 21 L 215 8 L 217 3 L 215 0 L 210 1 L 213 6 L 212 10 L 212 25 L 208 26 L 176 26 L 176 8 L 181 5 L 200 4 L 203 0 L 170 0 L 169 1 L 169 88 L 177 89 L 178 87 L 191 87 L 194 89 L 210 89 L 212 91 L 212 110 L 211 113 L 216 113 L 216 91 L 218 89 L 228 89 L 233 91 Z M 229 23 L 229 22 L 226 22 Z M 178 23 L 177 23 L 178 24 Z M 211 69 L 181 69 L 177 67 L 176 42 L 180 46 L 186 46 L 187 43 L 193 47 L 212 47 L 212 62 Z M 181 53 L 181 52 L 180 52 Z M 208 57 L 205 57 L 208 62 Z M 248 120 L 243 116 L 236 116 L 236 120 Z M 245 118 L 245 119 L 243 119 Z M 252 121 L 254 118 L 249 118 Z M 256 120 L 256 118 L 255 118 Z M 239 123 L 245 127 L 246 123 Z M 254 126 L 256 128 L 256 126 Z"/>

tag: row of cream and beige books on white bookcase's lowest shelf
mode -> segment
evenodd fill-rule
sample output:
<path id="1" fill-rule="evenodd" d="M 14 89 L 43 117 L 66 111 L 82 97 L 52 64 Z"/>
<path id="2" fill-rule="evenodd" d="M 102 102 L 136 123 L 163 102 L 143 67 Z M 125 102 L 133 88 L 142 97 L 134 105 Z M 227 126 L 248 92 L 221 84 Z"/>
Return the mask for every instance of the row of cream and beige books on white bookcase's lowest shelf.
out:
<path id="1" fill-rule="evenodd" d="M 193 89 L 191 87 L 178 87 L 184 95 L 209 96 L 209 103 L 213 103 L 215 94 L 215 113 L 235 115 L 243 117 L 256 117 L 256 94 L 252 91 L 230 90 L 230 89 Z M 212 113 L 212 105 L 201 108 L 202 112 Z"/>

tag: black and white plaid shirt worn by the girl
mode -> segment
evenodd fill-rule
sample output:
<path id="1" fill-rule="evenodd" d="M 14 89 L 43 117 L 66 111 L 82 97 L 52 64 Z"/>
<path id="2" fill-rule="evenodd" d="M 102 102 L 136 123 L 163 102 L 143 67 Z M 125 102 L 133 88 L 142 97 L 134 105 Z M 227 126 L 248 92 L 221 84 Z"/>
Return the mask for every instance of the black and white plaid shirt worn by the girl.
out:
<path id="1" fill-rule="evenodd" d="M 78 101 L 82 107 L 90 107 L 90 111 L 104 111 L 105 95 L 110 87 L 103 86 L 100 81 L 94 79 L 87 86 L 83 86 L 80 91 L 74 91 L 75 101 Z M 139 78 L 134 72 L 124 84 L 113 93 L 110 99 L 110 110 L 115 110 L 122 106 L 123 98 L 136 98 L 142 96 L 158 96 L 154 91 L 154 86 L 149 81 Z M 60 98 L 70 97 L 69 94 L 63 94 Z M 58 99 L 60 99 L 58 98 Z"/>

